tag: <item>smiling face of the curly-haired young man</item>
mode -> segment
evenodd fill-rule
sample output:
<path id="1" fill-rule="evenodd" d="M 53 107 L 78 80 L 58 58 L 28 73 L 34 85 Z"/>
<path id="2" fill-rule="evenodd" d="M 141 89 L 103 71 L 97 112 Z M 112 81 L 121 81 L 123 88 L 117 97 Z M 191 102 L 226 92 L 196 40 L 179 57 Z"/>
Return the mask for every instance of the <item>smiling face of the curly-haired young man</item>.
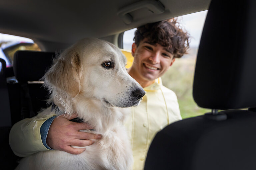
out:
<path id="1" fill-rule="evenodd" d="M 158 43 L 152 44 L 147 39 L 138 45 L 133 43 L 132 55 L 134 62 L 131 67 L 131 75 L 139 83 L 154 81 L 161 77 L 173 64 L 173 54 Z"/>

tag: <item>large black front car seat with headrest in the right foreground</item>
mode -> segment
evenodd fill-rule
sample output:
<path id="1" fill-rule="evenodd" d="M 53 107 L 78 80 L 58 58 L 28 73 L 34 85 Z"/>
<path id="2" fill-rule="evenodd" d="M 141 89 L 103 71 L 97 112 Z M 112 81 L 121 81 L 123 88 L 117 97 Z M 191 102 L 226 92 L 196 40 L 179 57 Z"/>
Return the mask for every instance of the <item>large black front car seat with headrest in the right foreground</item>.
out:
<path id="1" fill-rule="evenodd" d="M 254 0 L 211 1 L 193 97 L 212 112 L 158 132 L 145 170 L 256 169 L 255 9 Z"/>

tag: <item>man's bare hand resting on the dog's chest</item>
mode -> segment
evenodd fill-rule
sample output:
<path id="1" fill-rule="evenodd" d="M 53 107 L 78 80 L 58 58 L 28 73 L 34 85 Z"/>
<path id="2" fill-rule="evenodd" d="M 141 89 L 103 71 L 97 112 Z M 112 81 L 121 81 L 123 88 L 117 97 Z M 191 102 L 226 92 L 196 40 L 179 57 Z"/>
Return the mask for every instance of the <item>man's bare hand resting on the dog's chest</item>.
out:
<path id="1" fill-rule="evenodd" d="M 46 143 L 55 150 L 65 151 L 71 154 L 80 154 L 85 148 L 73 148 L 73 146 L 89 146 L 95 141 L 90 139 L 100 139 L 101 135 L 79 130 L 93 129 L 85 123 L 75 123 L 69 120 L 76 118 L 77 115 L 59 115 L 57 116 L 48 131 Z"/>

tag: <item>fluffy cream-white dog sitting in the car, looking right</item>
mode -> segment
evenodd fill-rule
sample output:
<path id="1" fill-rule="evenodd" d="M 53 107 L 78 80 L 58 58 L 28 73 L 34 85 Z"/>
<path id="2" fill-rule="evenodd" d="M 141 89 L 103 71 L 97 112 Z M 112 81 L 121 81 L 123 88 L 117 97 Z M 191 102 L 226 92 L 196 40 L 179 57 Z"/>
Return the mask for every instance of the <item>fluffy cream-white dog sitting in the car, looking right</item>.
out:
<path id="1" fill-rule="evenodd" d="M 21 160 L 24 170 L 124 170 L 133 164 L 132 150 L 123 126 L 126 107 L 137 106 L 145 91 L 127 73 L 126 58 L 113 44 L 83 39 L 66 49 L 44 76 L 57 110 L 40 114 L 78 114 L 102 138 L 79 155 L 42 151 Z M 74 146 L 75 147 L 75 146 Z"/>

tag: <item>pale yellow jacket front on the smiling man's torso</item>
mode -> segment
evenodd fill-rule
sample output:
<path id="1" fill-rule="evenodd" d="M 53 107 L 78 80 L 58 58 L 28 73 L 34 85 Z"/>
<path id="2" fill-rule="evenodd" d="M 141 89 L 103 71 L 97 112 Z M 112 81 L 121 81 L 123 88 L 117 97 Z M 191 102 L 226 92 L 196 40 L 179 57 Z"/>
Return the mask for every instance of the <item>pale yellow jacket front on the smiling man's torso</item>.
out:
<path id="1" fill-rule="evenodd" d="M 155 134 L 182 119 L 175 93 L 162 85 L 161 78 L 144 90 L 145 96 L 138 106 L 131 108 L 125 124 L 133 150 L 133 170 L 144 169 L 147 151 Z"/>

